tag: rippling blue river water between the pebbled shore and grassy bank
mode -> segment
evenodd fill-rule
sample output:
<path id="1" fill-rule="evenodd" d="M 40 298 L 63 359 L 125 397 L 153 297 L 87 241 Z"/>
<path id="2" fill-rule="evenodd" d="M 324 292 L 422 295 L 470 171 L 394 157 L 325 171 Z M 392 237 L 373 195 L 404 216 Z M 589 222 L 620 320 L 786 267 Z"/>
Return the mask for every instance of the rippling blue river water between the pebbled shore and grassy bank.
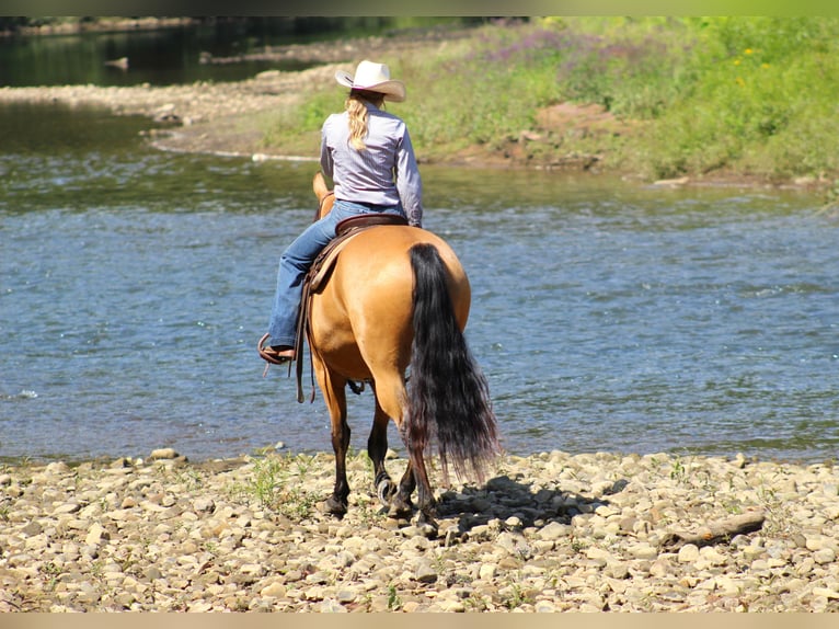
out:
<path id="1" fill-rule="evenodd" d="M 157 152 L 146 126 L 0 111 L 0 457 L 329 449 L 320 394 L 296 403 L 254 350 L 315 165 Z M 423 173 L 510 451 L 836 457 L 839 224 L 818 199 Z M 350 400 L 354 447 L 371 412 Z"/>

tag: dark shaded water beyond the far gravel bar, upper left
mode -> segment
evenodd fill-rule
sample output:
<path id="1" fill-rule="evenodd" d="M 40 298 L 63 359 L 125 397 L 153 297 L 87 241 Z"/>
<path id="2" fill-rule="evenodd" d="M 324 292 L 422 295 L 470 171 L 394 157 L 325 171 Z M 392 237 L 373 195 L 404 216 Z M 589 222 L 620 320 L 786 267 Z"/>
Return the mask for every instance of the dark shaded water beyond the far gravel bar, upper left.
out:
<path id="1" fill-rule="evenodd" d="M 0 85 L 170 85 L 240 81 L 318 64 L 266 48 L 387 34 L 396 18 L 207 18 L 154 31 L 0 37 Z M 414 18 L 432 25 L 451 18 Z M 403 19 L 405 21 L 405 19 Z"/>

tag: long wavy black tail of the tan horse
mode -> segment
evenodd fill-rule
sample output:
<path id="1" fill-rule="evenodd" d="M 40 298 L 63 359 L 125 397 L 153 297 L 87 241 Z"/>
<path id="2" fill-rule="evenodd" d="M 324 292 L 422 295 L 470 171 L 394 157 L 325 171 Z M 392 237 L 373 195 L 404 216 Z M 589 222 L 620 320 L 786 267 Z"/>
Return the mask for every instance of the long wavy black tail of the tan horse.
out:
<path id="1" fill-rule="evenodd" d="M 410 255 L 414 342 L 407 384 L 409 451 L 423 456 L 426 446 L 436 446 L 444 473 L 451 464 L 458 474 L 472 472 L 482 481 L 486 464 L 501 451 L 490 389 L 455 318 L 437 248 L 415 244 Z"/>

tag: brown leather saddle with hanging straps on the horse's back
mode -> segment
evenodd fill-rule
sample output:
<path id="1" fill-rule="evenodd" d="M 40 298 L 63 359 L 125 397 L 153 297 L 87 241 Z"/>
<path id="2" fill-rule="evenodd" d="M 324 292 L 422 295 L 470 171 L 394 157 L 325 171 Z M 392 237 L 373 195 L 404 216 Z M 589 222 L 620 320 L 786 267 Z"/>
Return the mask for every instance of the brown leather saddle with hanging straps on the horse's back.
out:
<path id="1" fill-rule="evenodd" d="M 323 248 L 318 258 L 314 259 L 309 273 L 303 279 L 303 294 L 300 299 L 300 311 L 297 316 L 297 338 L 295 340 L 295 355 L 297 356 L 297 401 L 303 402 L 303 342 L 309 338 L 309 325 L 311 322 L 311 299 L 312 295 L 321 291 L 329 282 L 332 270 L 335 267 L 338 254 L 347 243 L 358 233 L 366 229 L 379 225 L 407 225 L 403 216 L 395 214 L 361 214 L 345 218 L 335 226 L 335 238 Z M 311 342 L 310 342 L 311 346 Z M 310 402 L 314 401 L 314 374 L 311 375 L 312 392 Z M 356 390 L 355 387 L 353 387 Z M 360 392 L 356 390 L 356 392 Z"/>

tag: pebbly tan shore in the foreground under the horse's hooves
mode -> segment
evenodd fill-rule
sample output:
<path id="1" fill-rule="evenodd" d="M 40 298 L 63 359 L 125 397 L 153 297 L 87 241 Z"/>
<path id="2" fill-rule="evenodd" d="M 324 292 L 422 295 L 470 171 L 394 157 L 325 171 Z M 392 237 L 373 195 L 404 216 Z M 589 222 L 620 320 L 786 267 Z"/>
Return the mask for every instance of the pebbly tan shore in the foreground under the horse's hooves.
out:
<path id="1" fill-rule="evenodd" d="M 348 471 L 336 521 L 325 454 L 0 468 L 0 611 L 839 610 L 832 466 L 506 456 L 437 490 L 436 535 L 380 513 L 365 455 Z"/>

